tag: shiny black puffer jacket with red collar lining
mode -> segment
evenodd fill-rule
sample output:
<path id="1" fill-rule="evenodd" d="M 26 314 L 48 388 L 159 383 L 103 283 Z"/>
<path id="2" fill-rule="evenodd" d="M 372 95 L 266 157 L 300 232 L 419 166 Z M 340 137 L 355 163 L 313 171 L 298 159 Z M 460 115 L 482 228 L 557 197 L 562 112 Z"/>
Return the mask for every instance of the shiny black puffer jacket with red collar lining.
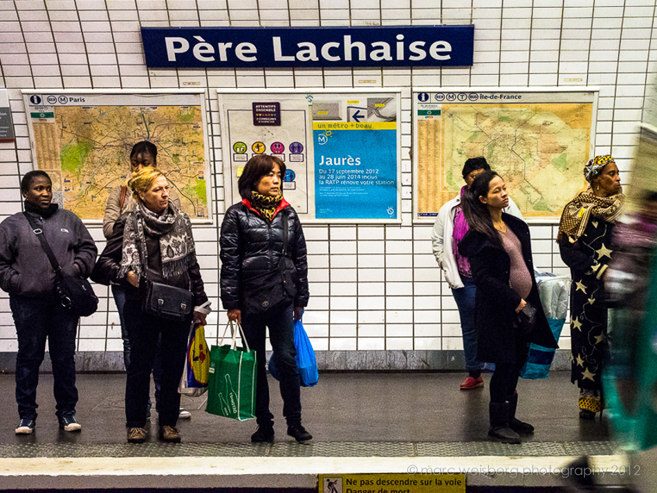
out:
<path id="1" fill-rule="evenodd" d="M 284 221 L 288 225 L 286 245 Z M 299 216 L 285 200 L 272 221 L 246 200 L 229 207 L 219 245 L 223 308 L 266 310 L 280 301 L 308 305 L 306 239 Z"/>

